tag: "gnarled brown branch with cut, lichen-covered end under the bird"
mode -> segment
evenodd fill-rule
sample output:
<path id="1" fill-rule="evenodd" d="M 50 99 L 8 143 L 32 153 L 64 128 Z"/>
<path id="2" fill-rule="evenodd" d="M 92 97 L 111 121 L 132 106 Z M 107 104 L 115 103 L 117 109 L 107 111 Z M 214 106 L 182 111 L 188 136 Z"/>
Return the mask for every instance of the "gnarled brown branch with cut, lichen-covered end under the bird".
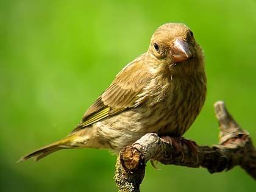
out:
<path id="1" fill-rule="evenodd" d="M 115 169 L 119 192 L 140 191 L 149 160 L 165 165 L 202 167 L 210 173 L 239 165 L 256 180 L 256 150 L 249 133 L 236 123 L 224 102 L 215 103 L 215 114 L 219 121 L 219 144 L 197 146 L 194 141 L 185 138 L 160 138 L 155 133 L 148 133 L 124 148 L 119 153 Z"/>

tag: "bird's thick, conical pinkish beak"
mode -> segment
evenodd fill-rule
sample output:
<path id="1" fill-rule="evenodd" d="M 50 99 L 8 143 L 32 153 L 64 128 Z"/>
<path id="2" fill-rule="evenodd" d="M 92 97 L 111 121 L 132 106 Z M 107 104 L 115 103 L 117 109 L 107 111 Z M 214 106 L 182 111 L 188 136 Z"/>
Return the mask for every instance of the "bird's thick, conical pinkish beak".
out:
<path id="1" fill-rule="evenodd" d="M 188 44 L 187 41 L 180 39 L 174 41 L 171 48 L 171 54 L 173 63 L 184 62 L 185 60 L 190 59 L 193 55 L 190 44 Z"/>

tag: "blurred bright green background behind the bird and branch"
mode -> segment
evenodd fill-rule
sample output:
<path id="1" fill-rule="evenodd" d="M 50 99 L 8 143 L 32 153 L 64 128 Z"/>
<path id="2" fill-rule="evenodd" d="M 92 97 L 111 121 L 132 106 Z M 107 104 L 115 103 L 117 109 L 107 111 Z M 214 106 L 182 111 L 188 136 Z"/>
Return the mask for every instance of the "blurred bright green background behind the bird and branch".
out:
<path id="1" fill-rule="evenodd" d="M 116 157 L 66 150 L 15 162 L 65 137 L 115 74 L 145 52 L 163 23 L 185 23 L 205 51 L 208 96 L 185 137 L 218 143 L 224 100 L 256 140 L 256 1 L 0 1 L 0 190 L 116 191 Z M 141 191 L 256 191 L 239 167 L 147 166 Z"/>

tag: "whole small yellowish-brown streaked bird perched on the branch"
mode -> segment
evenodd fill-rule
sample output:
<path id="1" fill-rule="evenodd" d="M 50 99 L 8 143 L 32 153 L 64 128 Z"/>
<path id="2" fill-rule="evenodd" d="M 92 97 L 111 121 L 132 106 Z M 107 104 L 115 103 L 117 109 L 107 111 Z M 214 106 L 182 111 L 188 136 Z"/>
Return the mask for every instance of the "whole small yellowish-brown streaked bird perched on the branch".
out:
<path id="1" fill-rule="evenodd" d="M 20 161 L 39 160 L 60 149 L 119 152 L 152 132 L 180 137 L 201 111 L 205 94 L 204 54 L 193 32 L 185 24 L 163 24 L 148 51 L 117 74 L 68 137 Z"/>

